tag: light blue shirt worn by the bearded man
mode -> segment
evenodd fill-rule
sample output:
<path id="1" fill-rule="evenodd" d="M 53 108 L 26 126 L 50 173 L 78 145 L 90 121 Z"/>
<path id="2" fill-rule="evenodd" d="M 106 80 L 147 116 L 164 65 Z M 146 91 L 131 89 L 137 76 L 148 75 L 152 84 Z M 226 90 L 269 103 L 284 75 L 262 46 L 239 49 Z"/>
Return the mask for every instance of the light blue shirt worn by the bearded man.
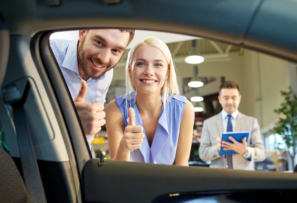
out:
<path id="1" fill-rule="evenodd" d="M 73 41 L 50 40 L 49 45 L 56 58 L 56 61 L 59 64 L 72 100 L 74 100 L 81 88 L 81 81 L 83 80 L 79 75 L 77 63 L 78 39 Z M 88 93 L 86 95 L 85 101 L 87 103 L 104 104 L 112 76 L 113 69 L 107 71 L 100 79 L 94 80 L 89 78 L 86 81 L 88 84 Z M 95 135 L 86 136 L 90 149 L 94 137 Z"/>

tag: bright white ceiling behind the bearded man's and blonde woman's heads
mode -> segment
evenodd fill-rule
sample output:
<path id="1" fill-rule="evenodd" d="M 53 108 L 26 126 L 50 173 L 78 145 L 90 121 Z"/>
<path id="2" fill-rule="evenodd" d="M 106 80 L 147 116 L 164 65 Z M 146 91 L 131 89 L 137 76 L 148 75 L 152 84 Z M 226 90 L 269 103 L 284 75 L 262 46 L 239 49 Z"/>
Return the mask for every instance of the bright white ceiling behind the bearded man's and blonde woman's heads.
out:
<path id="1" fill-rule="evenodd" d="M 140 40 L 145 39 L 148 36 L 154 36 L 159 38 L 165 43 L 180 42 L 192 39 L 198 39 L 197 37 L 166 33 L 166 32 L 156 32 L 156 31 L 147 31 L 147 30 L 136 30 L 135 36 L 132 42 L 128 45 L 127 49 L 133 47 Z M 65 40 L 74 40 L 78 39 L 78 30 L 75 31 L 64 31 L 56 32 L 50 35 L 49 39 L 65 39 Z"/>

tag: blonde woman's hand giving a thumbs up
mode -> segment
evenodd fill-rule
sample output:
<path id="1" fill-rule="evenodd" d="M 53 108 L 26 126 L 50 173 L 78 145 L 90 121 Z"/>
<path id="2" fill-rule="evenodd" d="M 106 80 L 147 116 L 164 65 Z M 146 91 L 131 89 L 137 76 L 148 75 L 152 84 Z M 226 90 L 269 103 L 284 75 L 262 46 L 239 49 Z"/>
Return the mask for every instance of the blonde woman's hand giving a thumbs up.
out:
<path id="1" fill-rule="evenodd" d="M 130 107 L 129 123 L 125 128 L 124 136 L 120 142 L 119 148 L 122 152 L 129 152 L 139 149 L 144 138 L 144 129 L 140 125 L 135 125 L 135 112 L 134 109 Z"/>

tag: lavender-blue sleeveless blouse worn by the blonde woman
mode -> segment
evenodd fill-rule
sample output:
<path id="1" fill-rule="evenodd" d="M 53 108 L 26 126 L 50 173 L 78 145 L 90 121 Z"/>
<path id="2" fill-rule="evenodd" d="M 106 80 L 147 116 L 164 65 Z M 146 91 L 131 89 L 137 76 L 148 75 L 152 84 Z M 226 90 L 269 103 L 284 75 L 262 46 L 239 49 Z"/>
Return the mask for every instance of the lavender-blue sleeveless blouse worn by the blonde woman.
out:
<path id="1" fill-rule="evenodd" d="M 162 107 L 151 147 L 148 145 L 148 139 L 144 130 L 144 141 L 140 149 L 130 153 L 130 161 L 168 165 L 174 163 L 181 119 L 187 99 L 177 95 L 172 95 L 169 98 L 170 100 L 165 105 L 166 112 L 164 112 L 164 107 Z M 129 97 L 127 98 L 126 95 L 115 98 L 115 102 L 122 113 L 124 130 L 129 122 L 129 107 L 134 108 L 135 125 L 144 127 L 136 105 L 135 92 L 131 93 L 130 101 L 126 102 L 126 100 L 129 100 Z M 163 95 L 162 102 L 164 102 Z"/>

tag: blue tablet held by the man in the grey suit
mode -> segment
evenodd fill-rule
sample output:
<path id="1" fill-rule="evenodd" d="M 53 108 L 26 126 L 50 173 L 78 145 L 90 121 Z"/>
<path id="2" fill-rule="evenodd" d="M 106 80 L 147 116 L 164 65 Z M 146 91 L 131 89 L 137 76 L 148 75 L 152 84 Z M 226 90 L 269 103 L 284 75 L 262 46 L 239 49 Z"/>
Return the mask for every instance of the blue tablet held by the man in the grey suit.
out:
<path id="1" fill-rule="evenodd" d="M 225 132 L 222 134 L 222 141 L 226 141 L 229 143 L 232 143 L 231 140 L 229 140 L 229 136 L 233 137 L 237 142 L 242 143 L 242 140 L 244 138 L 248 139 L 248 135 L 249 132 L 248 131 L 241 131 L 241 132 Z M 221 144 L 222 144 L 221 141 Z M 237 152 L 233 151 L 233 150 L 223 150 L 223 147 L 221 147 L 221 150 L 219 151 L 220 155 L 224 155 L 224 154 L 237 154 Z"/>

